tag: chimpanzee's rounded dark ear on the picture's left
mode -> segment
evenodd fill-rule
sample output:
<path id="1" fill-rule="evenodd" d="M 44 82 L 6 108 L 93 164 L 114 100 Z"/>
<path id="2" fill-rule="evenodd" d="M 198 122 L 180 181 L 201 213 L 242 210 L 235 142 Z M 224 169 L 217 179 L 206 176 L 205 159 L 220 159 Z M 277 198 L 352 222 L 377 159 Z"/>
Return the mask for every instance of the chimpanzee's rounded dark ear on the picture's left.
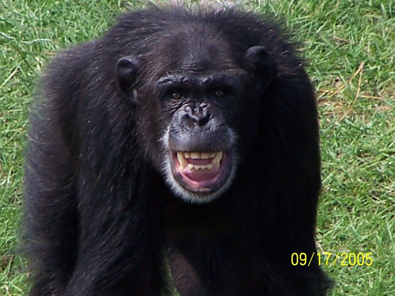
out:
<path id="1" fill-rule="evenodd" d="M 122 57 L 115 66 L 115 75 L 119 89 L 132 99 L 135 98 L 134 87 L 140 68 L 139 61 L 133 56 Z"/>

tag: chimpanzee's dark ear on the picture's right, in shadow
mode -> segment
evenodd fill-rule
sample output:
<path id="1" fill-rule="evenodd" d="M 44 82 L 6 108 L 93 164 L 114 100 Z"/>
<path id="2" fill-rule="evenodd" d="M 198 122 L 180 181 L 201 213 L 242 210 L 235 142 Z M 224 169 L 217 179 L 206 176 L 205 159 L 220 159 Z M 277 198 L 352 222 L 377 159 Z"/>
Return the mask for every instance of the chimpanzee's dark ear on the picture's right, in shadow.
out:
<path id="1" fill-rule="evenodd" d="M 276 76 L 276 63 L 264 46 L 252 46 L 245 54 L 247 66 L 263 93 Z"/>

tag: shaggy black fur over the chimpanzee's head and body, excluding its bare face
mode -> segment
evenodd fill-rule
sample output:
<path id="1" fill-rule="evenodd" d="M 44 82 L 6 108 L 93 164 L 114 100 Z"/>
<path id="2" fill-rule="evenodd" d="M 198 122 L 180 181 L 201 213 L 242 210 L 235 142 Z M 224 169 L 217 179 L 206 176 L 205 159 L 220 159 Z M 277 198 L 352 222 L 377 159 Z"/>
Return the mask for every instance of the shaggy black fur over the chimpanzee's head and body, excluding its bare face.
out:
<path id="1" fill-rule="evenodd" d="M 236 135 L 235 176 L 204 204 L 164 180 L 161 137 L 175 107 L 155 82 L 174 71 L 238 77 L 235 98 L 218 103 Z M 318 123 L 303 61 L 274 22 L 231 9 L 128 12 L 58 55 L 36 97 L 32 296 L 156 296 L 166 260 L 183 296 L 326 294 L 316 259 L 291 264 L 292 253 L 316 252 Z"/>

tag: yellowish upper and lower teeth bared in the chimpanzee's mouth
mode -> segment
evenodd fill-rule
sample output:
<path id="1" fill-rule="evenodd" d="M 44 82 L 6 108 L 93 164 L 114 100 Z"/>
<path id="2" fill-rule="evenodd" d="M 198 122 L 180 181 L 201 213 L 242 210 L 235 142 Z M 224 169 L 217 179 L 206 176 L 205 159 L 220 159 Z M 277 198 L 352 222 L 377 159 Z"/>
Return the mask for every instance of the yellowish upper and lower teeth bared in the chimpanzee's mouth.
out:
<path id="1" fill-rule="evenodd" d="M 180 169 L 184 170 L 186 167 L 189 171 L 192 171 L 192 169 L 195 169 L 196 171 L 198 170 L 211 170 L 213 166 L 216 168 L 219 167 L 220 162 L 223 157 L 223 152 L 177 152 L 177 160 L 180 163 Z M 210 159 L 210 162 L 207 163 L 206 165 L 196 165 L 193 163 L 190 163 L 187 159 Z"/>

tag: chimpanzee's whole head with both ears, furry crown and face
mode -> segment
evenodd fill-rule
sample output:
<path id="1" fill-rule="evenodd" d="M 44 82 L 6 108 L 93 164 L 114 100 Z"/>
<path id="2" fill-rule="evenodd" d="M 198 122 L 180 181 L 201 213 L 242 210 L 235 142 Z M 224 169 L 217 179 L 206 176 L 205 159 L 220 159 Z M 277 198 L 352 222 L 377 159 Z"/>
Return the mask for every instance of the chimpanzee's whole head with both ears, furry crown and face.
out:
<path id="1" fill-rule="evenodd" d="M 258 119 L 251 102 L 272 81 L 275 65 L 263 46 L 235 52 L 218 32 L 193 29 L 163 34 L 146 54 L 121 57 L 116 76 L 137 105 L 147 154 L 173 193 L 207 203 L 232 184 Z"/>

